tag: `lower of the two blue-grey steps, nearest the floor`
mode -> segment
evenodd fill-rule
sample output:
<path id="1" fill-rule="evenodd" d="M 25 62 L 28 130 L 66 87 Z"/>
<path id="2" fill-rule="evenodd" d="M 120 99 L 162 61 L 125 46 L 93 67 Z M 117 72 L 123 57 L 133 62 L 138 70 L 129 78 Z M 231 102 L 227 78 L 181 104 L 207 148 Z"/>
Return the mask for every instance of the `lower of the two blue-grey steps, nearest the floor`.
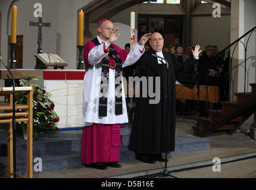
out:
<path id="1" fill-rule="evenodd" d="M 191 151 L 206 150 L 210 148 L 210 140 L 197 137 L 177 136 L 175 151 L 170 154 L 180 154 Z M 74 169 L 84 167 L 81 164 L 81 152 L 59 152 L 54 154 L 33 154 L 33 160 L 42 159 L 42 172 Z M 135 153 L 123 145 L 120 147 L 120 162 L 135 160 Z M 7 157 L 0 157 L 0 163 L 4 165 L 4 176 L 7 176 Z M 36 167 L 37 162 L 33 163 Z M 36 167 L 38 168 L 38 167 Z M 26 175 L 26 157 L 17 157 L 17 173 Z M 36 173 L 35 170 L 33 173 Z"/>

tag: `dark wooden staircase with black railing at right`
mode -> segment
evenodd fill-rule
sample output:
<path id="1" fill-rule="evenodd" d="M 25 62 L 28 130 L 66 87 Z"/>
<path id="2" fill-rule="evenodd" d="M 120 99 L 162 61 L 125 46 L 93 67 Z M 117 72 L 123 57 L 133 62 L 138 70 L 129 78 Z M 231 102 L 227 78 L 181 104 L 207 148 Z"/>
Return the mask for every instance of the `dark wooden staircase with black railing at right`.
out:
<path id="1" fill-rule="evenodd" d="M 235 93 L 237 102 L 221 102 L 221 110 L 210 110 L 210 119 L 200 118 L 200 126 L 193 126 L 193 135 L 232 134 L 256 110 L 256 83 L 251 93 Z"/>

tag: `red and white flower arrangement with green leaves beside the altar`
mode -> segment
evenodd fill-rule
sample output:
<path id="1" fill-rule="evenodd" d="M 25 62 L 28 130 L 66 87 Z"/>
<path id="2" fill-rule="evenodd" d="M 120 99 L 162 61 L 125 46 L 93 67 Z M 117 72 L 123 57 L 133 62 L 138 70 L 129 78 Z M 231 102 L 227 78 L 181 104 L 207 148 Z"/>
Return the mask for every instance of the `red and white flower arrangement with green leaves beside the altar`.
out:
<path id="1" fill-rule="evenodd" d="M 26 75 L 23 73 L 23 75 Z M 26 87 L 31 81 L 38 81 L 38 78 L 28 77 L 20 79 L 20 85 Z M 58 131 L 56 126 L 60 121 L 57 113 L 54 112 L 54 102 L 50 100 L 51 94 L 44 90 L 45 87 L 33 84 L 33 138 L 38 137 L 38 133 Z M 17 93 L 15 95 L 16 104 L 26 104 L 27 94 Z M 20 126 L 26 129 L 26 122 L 19 122 Z"/>

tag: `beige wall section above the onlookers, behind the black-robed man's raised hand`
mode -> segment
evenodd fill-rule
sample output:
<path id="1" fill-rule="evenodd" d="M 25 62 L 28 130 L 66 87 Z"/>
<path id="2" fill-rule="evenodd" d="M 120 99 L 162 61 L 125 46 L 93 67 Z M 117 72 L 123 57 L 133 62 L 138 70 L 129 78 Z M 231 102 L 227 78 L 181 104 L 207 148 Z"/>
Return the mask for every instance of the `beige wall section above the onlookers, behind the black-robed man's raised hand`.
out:
<path id="1" fill-rule="evenodd" d="M 212 4 L 199 4 L 191 12 L 191 45 L 217 45 L 218 50 L 230 44 L 230 11 L 221 7 L 221 17 L 213 17 Z"/>

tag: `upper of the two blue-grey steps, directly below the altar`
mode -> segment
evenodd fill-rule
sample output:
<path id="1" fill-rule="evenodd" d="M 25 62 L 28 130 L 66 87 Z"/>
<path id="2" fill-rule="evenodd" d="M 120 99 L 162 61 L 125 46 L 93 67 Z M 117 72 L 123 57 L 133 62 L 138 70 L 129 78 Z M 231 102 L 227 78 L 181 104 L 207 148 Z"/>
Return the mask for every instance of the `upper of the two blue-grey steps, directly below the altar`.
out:
<path id="1" fill-rule="evenodd" d="M 2 132 L 1 132 L 2 131 Z M 68 135 L 69 134 L 69 135 Z M 121 129 L 121 144 L 128 145 L 130 139 L 130 129 Z M 33 154 L 54 154 L 62 152 L 78 152 L 82 148 L 82 129 L 73 131 L 58 131 L 55 134 L 40 136 L 38 140 L 33 141 Z M 21 134 L 16 138 L 16 155 L 25 157 L 27 155 L 27 144 Z M 7 156 L 7 133 L 0 130 L 0 156 Z"/>

